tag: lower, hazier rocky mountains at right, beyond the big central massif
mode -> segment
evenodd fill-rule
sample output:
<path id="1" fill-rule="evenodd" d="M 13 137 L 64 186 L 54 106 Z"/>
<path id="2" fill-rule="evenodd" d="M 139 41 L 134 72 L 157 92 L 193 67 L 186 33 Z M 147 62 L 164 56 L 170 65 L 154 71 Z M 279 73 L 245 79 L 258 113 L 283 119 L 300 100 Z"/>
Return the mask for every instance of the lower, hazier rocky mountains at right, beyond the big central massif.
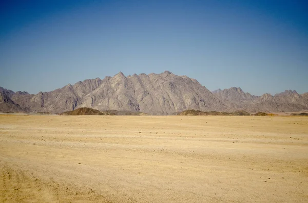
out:
<path id="1" fill-rule="evenodd" d="M 218 89 L 213 94 L 229 108 L 249 112 L 301 111 L 308 109 L 308 94 L 299 95 L 296 91 L 291 90 L 286 90 L 274 96 L 267 93 L 262 96 L 254 96 L 244 93 L 239 87 L 232 87 L 223 90 Z"/>

